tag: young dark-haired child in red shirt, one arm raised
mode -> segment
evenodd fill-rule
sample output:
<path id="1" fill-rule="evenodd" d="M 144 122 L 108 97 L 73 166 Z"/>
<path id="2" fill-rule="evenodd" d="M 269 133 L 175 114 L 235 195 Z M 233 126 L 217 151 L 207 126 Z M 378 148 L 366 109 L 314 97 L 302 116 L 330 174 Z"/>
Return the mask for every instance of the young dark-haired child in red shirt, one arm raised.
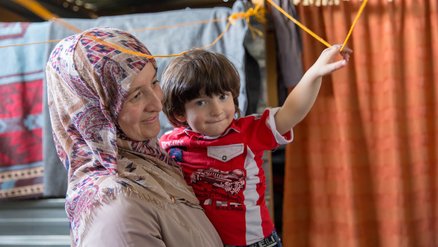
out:
<path id="1" fill-rule="evenodd" d="M 161 137 L 161 146 L 182 167 L 225 245 L 281 246 L 265 204 L 263 152 L 292 141 L 321 77 L 346 65 L 349 49 L 344 59 L 330 61 L 339 49 L 322 52 L 283 106 L 241 118 L 239 75 L 225 56 L 193 50 L 163 73 L 163 111 L 175 129 Z"/>

